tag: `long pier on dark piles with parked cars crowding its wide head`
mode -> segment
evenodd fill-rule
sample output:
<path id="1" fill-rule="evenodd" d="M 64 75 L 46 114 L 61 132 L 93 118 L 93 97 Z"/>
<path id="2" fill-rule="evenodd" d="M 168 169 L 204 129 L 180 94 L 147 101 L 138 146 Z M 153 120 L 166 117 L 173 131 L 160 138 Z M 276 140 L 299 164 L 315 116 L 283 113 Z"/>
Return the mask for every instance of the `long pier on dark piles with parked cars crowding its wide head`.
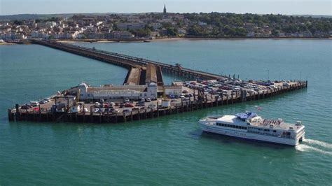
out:
<path id="1" fill-rule="evenodd" d="M 270 86 L 261 85 L 255 82 L 243 82 L 245 85 L 253 85 L 258 88 L 256 91 L 250 90 L 249 88 L 235 88 L 234 90 L 222 90 L 222 88 L 215 88 L 213 90 L 212 87 L 216 87 L 216 85 L 221 84 L 226 85 L 231 79 L 218 76 L 213 73 L 185 69 L 179 66 L 153 62 L 147 59 L 121 55 L 114 52 L 96 50 L 95 48 L 84 48 L 76 45 L 56 43 L 52 41 L 32 42 L 39 45 L 45 45 L 50 48 L 71 52 L 76 55 L 90 57 L 102 62 L 116 64 L 128 69 L 128 73 L 124 81 L 124 86 L 126 86 L 125 88 L 89 87 L 90 89 L 98 90 L 104 88 L 107 91 L 111 89 L 130 90 L 131 87 L 135 86 L 133 90 L 146 90 L 146 86 L 149 83 L 155 83 L 158 85 L 158 96 L 155 100 L 146 102 L 144 106 L 139 106 L 140 98 L 137 97 L 137 99 L 132 99 L 132 105 L 135 104 L 135 106 L 130 109 L 122 106 L 123 99 L 110 99 L 112 103 L 116 103 L 114 106 L 112 106 L 113 110 L 106 109 L 104 111 L 95 112 L 95 101 L 99 101 L 99 99 L 91 98 L 89 100 L 85 99 L 82 101 L 82 99 L 80 99 L 81 90 L 78 91 L 76 89 L 76 94 L 71 94 L 71 92 L 75 89 L 74 87 L 74 89 L 65 90 L 60 95 L 51 96 L 50 99 L 46 101 L 46 103 L 39 104 L 33 108 L 28 108 L 27 105 L 16 104 L 15 108 L 8 109 L 8 120 L 11 121 L 92 123 L 130 122 L 134 120 L 146 120 L 148 118 L 160 117 L 162 115 L 172 115 L 205 108 L 212 108 L 216 106 L 224 106 L 233 103 L 243 103 L 245 101 L 267 99 L 271 96 L 277 96 L 279 94 L 284 94 L 286 92 L 300 90 L 307 87 L 307 81 L 292 81 L 289 83 L 276 82 L 272 83 L 273 85 Z M 174 83 L 174 87 L 167 87 L 163 83 L 162 73 L 172 73 L 177 76 L 192 79 L 192 81 L 187 83 Z M 239 80 L 238 82 L 242 81 Z M 213 91 L 205 92 L 202 87 L 208 87 L 208 85 Z M 187 97 L 181 96 L 166 99 L 166 88 L 179 88 L 181 93 L 186 92 Z M 219 90 L 223 92 L 216 92 Z M 54 106 L 57 106 L 60 102 L 65 106 L 62 108 L 62 110 L 58 111 Z M 71 108 L 75 106 L 77 107 L 78 105 L 83 106 L 81 111 L 71 110 Z M 104 104 L 102 103 L 102 106 L 103 105 Z"/>

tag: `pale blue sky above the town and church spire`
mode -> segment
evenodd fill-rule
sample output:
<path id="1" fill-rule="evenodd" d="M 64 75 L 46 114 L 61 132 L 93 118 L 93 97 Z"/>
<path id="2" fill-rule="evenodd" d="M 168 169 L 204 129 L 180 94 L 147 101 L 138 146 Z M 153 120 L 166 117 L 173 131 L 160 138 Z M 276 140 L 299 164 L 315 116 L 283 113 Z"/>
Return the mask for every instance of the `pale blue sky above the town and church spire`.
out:
<path id="1" fill-rule="evenodd" d="M 331 0 L 0 0 L 0 15 L 53 13 L 258 13 L 332 15 Z"/>

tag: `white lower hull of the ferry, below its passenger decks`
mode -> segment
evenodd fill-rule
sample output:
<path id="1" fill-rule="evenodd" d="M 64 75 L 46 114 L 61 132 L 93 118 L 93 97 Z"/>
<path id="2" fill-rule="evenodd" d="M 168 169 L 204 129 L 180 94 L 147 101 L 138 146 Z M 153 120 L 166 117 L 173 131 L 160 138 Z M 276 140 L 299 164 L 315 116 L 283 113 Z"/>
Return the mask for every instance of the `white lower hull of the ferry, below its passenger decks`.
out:
<path id="1" fill-rule="evenodd" d="M 221 127 L 216 127 L 215 125 L 204 124 L 201 122 L 199 122 L 199 124 L 202 131 L 208 131 L 216 134 L 233 136 L 237 138 L 245 138 L 254 141 L 264 141 L 269 143 L 279 143 L 283 145 L 293 145 L 293 146 L 298 145 L 299 141 L 304 139 L 304 134 L 305 134 L 303 133 L 302 135 L 298 136 L 298 138 L 296 139 L 280 138 L 275 136 L 247 133 L 247 131 L 235 131 L 231 129 L 223 129 Z"/>

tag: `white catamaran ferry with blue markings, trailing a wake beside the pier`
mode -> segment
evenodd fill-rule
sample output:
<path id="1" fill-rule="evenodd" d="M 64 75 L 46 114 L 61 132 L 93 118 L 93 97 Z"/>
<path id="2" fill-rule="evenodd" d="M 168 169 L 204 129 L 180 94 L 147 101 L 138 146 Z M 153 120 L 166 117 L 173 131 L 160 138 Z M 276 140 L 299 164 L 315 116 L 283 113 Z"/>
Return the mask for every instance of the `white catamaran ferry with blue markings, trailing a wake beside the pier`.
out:
<path id="1" fill-rule="evenodd" d="M 300 121 L 289 124 L 282 119 L 267 120 L 249 112 L 208 116 L 198 123 L 203 131 L 284 145 L 296 146 L 305 137 L 305 126 Z"/>

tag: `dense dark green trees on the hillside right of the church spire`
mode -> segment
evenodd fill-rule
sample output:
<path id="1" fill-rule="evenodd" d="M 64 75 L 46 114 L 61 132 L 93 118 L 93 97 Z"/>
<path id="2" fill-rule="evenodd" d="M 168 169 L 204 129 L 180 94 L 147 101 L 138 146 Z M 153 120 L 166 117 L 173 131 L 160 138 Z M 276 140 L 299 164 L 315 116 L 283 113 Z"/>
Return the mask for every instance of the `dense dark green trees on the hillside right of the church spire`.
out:
<path id="1" fill-rule="evenodd" d="M 257 14 L 235 14 L 235 13 L 185 13 L 184 16 L 193 22 L 188 29 L 191 36 L 245 36 L 248 29 L 244 29 L 247 23 L 255 24 L 258 28 L 268 27 L 272 29 L 272 35 L 281 31 L 285 33 L 296 33 L 300 31 L 328 32 L 332 30 L 331 17 L 304 17 L 289 15 L 257 15 Z M 203 22 L 212 25 L 212 31 Z"/>

